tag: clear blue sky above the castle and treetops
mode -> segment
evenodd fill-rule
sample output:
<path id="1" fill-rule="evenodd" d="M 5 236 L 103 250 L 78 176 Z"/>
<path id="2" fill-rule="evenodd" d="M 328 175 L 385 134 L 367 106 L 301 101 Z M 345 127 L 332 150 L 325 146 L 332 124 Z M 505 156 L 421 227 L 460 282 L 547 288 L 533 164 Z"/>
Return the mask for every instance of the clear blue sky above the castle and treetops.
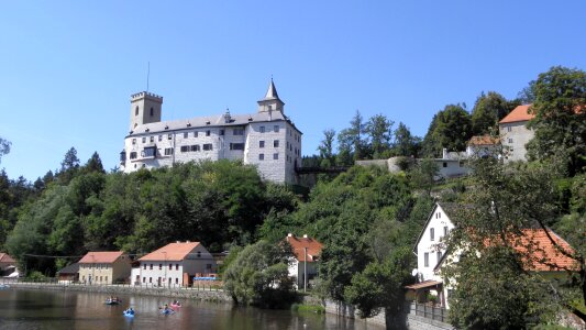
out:
<path id="1" fill-rule="evenodd" d="M 114 167 L 148 62 L 163 120 L 254 112 L 273 75 L 306 155 L 356 110 L 424 135 L 445 105 L 586 69 L 585 22 L 578 0 L 3 1 L 0 168 L 34 180 L 70 146 Z"/>

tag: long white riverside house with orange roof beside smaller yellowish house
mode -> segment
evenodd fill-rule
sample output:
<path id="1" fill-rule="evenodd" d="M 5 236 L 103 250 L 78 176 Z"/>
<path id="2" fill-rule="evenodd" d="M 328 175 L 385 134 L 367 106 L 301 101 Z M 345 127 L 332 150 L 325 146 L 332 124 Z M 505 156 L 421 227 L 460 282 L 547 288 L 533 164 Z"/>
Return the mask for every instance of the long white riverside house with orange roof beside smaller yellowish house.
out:
<path id="1" fill-rule="evenodd" d="M 144 286 L 188 286 L 194 277 L 215 277 L 213 256 L 199 242 L 169 243 L 139 258 L 132 283 Z"/>

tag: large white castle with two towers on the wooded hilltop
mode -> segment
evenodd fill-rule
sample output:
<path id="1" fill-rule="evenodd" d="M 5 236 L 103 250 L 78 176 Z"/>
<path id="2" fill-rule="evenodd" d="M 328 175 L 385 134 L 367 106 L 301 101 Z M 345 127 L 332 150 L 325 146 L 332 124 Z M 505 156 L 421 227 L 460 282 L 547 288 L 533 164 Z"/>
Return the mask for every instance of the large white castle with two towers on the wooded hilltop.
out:
<path id="1" fill-rule="evenodd" d="M 161 121 L 163 97 L 142 91 L 131 97 L 130 133 L 120 153 L 120 169 L 173 166 L 203 160 L 242 160 L 275 183 L 297 184 L 301 132 L 285 116 L 273 79 L 258 111 Z"/>

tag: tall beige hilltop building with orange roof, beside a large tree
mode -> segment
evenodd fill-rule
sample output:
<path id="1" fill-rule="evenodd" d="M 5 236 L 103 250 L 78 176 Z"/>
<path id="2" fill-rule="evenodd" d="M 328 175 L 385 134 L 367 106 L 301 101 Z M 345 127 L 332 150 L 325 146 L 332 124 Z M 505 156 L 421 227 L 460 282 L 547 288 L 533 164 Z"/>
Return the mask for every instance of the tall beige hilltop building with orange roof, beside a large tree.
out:
<path id="1" fill-rule="evenodd" d="M 529 113 L 530 107 L 518 106 L 498 123 L 506 162 L 526 161 L 526 144 L 535 135 L 533 130 L 527 128 L 527 123 L 535 117 Z"/>

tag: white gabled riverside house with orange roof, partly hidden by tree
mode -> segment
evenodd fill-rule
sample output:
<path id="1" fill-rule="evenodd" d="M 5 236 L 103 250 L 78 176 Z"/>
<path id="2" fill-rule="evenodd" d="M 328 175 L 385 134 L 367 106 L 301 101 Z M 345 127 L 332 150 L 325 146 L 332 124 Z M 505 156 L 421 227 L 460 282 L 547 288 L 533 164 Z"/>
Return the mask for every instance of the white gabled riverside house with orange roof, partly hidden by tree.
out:
<path id="1" fill-rule="evenodd" d="M 449 262 L 457 262 L 458 252 L 450 251 L 450 257 L 446 257 L 449 246 L 443 241 L 453 229 L 454 222 L 449 215 L 454 216 L 456 208 L 462 207 L 456 204 L 435 204 L 428 221 L 421 231 L 413 252 L 417 255 L 417 274 L 418 283 L 407 286 L 414 295 L 418 301 L 424 301 L 428 296 L 438 297 L 441 306 L 450 308 L 450 289 L 443 285 L 441 274 L 442 266 Z M 529 272 L 539 272 L 545 278 L 567 279 L 567 270 L 575 267 L 572 258 L 563 255 L 549 239 L 551 237 L 556 244 L 566 251 L 572 251 L 570 244 L 559 237 L 551 229 L 548 231 L 541 228 L 527 228 L 521 231 L 520 237 L 509 235 L 507 241 L 515 250 L 524 255 L 526 270 Z M 495 242 L 486 244 L 498 244 L 500 238 Z M 531 246 L 529 250 L 527 246 Z"/>

